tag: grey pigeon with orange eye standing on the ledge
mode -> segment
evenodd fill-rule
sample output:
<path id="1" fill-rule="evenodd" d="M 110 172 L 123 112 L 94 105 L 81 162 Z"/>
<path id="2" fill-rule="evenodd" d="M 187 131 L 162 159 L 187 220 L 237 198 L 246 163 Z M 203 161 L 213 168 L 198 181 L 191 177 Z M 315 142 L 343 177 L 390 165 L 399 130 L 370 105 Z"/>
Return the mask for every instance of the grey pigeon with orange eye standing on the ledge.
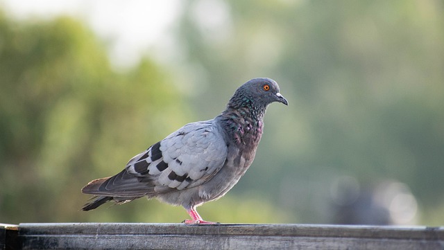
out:
<path id="1" fill-rule="evenodd" d="M 191 217 L 185 224 L 216 224 L 203 220 L 196 207 L 223 197 L 253 163 L 272 102 L 288 105 L 275 80 L 245 82 L 215 118 L 181 127 L 130 159 L 117 175 L 90 181 L 82 193 L 94 197 L 82 210 L 147 197 L 185 208 Z"/>

